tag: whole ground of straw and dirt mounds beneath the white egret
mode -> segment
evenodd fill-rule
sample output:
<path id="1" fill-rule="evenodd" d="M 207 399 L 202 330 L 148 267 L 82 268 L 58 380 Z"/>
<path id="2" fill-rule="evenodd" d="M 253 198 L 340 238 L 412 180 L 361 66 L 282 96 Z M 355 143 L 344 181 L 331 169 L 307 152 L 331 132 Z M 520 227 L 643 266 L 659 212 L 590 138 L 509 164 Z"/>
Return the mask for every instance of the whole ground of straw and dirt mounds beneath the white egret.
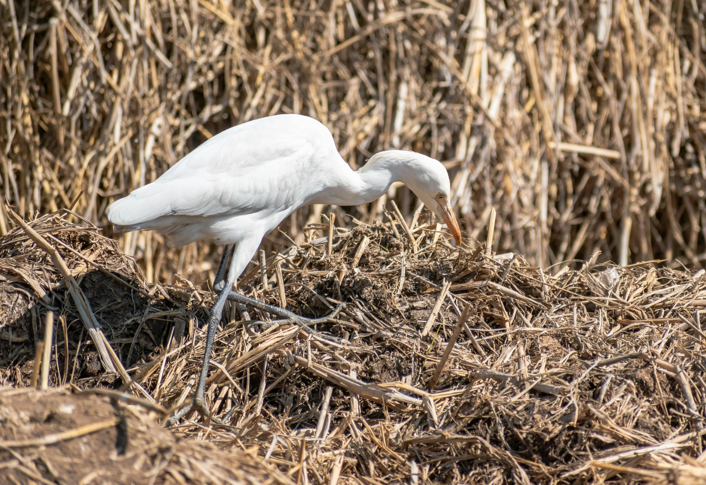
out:
<path id="1" fill-rule="evenodd" d="M 345 309 L 305 329 L 227 307 L 210 415 L 176 422 L 214 295 L 147 284 L 71 212 L 13 215 L 0 239 L 0 376 L 16 388 L 0 394 L 0 474 L 61 483 L 71 463 L 82 483 L 124 481 L 102 467 L 136 483 L 706 479 L 703 271 L 595 255 L 551 275 L 454 247 L 419 214 L 353 229 L 331 218 L 253 261 L 241 292 L 305 316 Z M 50 352 L 37 357 L 50 309 Z M 64 387 L 20 389 L 35 383 Z"/>

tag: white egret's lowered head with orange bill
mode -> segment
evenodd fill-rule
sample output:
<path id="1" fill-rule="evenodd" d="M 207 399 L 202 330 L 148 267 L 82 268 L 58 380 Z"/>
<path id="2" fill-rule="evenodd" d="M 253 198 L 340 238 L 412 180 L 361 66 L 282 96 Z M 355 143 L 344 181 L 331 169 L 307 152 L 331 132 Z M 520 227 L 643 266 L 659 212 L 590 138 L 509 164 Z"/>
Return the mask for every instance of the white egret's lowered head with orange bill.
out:
<path id="1" fill-rule="evenodd" d="M 395 162 L 395 172 L 402 183 L 408 186 L 427 208 L 441 217 L 453 239 L 461 244 L 461 230 L 451 207 L 451 184 L 446 168 L 438 160 L 421 153 L 407 150 L 388 150 L 373 155 L 376 158 Z"/>

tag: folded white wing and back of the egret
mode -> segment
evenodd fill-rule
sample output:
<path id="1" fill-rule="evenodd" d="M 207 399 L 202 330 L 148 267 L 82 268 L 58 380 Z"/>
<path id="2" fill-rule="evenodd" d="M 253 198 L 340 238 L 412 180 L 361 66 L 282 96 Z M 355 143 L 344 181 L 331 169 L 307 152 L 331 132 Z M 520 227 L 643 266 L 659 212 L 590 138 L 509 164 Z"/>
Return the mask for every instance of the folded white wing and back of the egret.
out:
<path id="1" fill-rule="evenodd" d="M 328 129 L 306 116 L 270 116 L 234 126 L 152 184 L 112 203 L 108 218 L 148 229 L 150 221 L 166 215 L 264 216 L 296 207 L 316 191 L 315 155 L 332 147 Z"/>

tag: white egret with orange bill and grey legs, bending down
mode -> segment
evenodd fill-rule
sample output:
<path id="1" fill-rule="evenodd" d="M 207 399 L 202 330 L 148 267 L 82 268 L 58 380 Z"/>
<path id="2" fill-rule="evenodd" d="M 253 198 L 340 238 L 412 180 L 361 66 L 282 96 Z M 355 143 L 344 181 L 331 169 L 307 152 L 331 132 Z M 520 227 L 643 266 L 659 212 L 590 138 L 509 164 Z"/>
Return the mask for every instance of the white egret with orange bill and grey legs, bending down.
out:
<path id="1" fill-rule="evenodd" d="M 460 244 L 443 164 L 403 150 L 379 152 L 352 171 L 331 133 L 308 116 L 280 114 L 248 121 L 210 138 L 159 179 L 116 200 L 107 209 L 117 231 L 153 229 L 170 246 L 210 240 L 225 248 L 215 288 L 224 288 L 208 321 L 201 379 L 193 405 L 203 411 L 203 389 L 217 322 L 226 299 L 256 306 L 307 326 L 309 319 L 231 291 L 260 246 L 295 209 L 308 204 L 359 205 L 380 198 L 390 185 L 406 184 L 446 223 Z M 222 277 L 232 253 L 227 280 Z"/>

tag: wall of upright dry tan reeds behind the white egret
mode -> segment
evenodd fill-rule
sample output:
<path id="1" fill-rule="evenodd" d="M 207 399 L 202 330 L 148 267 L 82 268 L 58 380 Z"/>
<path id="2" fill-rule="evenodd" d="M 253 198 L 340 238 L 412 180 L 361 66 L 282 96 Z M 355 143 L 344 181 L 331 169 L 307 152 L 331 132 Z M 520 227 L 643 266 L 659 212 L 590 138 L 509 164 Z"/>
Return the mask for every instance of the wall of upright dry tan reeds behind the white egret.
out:
<path id="1" fill-rule="evenodd" d="M 472 246 L 494 206 L 493 249 L 532 265 L 601 251 L 698 268 L 705 12 L 696 0 L 0 0 L 0 184 L 22 215 L 78 198 L 100 226 L 112 200 L 203 140 L 294 112 L 326 124 L 353 168 L 389 148 L 443 160 Z M 413 194 L 391 188 L 365 206 L 302 208 L 265 246 L 301 241 L 322 212 L 372 222 L 392 198 L 409 221 Z M 201 282 L 217 260 L 151 233 L 120 244 L 149 282 Z"/>

